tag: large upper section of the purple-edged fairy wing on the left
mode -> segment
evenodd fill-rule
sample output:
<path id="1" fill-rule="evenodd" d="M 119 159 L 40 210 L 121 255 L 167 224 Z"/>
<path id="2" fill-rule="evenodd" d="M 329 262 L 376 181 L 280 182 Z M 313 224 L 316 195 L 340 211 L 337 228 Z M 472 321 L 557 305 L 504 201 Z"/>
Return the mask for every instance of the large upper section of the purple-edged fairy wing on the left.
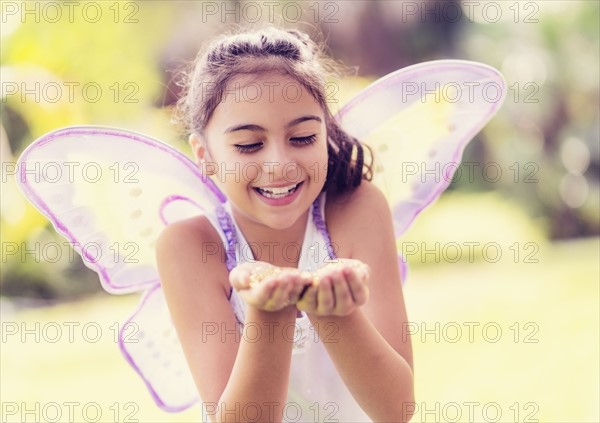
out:
<path id="1" fill-rule="evenodd" d="M 17 166 L 21 190 L 114 294 L 158 283 L 154 245 L 162 227 L 224 201 L 184 155 L 120 129 L 53 131 Z"/>

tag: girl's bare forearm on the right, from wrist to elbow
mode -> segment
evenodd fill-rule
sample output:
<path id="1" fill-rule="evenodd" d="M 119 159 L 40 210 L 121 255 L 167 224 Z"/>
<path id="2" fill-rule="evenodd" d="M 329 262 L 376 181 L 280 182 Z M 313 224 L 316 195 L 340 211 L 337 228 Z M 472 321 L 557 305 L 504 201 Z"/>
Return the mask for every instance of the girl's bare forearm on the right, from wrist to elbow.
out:
<path id="1" fill-rule="evenodd" d="M 369 417 L 373 421 L 410 420 L 412 370 L 361 309 L 344 317 L 309 317 L 342 380 Z"/>

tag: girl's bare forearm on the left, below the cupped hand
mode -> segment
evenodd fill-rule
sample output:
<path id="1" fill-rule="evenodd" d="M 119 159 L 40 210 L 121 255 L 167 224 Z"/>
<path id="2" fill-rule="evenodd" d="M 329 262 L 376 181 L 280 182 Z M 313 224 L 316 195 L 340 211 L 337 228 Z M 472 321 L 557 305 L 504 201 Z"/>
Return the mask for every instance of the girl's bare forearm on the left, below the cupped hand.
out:
<path id="1" fill-rule="evenodd" d="M 284 328 L 293 325 L 295 318 L 294 307 L 277 312 L 247 307 L 246 329 L 219 400 L 218 421 L 239 422 L 255 414 L 257 421 L 281 421 L 293 348 Z"/>

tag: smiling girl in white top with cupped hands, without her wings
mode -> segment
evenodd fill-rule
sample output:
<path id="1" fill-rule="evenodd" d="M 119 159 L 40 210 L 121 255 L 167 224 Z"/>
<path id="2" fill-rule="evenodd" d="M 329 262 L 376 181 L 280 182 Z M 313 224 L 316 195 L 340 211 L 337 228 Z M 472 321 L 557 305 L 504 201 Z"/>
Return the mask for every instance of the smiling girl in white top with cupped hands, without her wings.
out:
<path id="1" fill-rule="evenodd" d="M 205 420 L 411 417 L 391 214 L 328 109 L 327 67 L 305 34 L 268 28 L 216 40 L 187 78 L 190 144 L 229 201 L 168 226 L 157 263 Z M 228 272 L 206 252 L 231 237 Z"/>

